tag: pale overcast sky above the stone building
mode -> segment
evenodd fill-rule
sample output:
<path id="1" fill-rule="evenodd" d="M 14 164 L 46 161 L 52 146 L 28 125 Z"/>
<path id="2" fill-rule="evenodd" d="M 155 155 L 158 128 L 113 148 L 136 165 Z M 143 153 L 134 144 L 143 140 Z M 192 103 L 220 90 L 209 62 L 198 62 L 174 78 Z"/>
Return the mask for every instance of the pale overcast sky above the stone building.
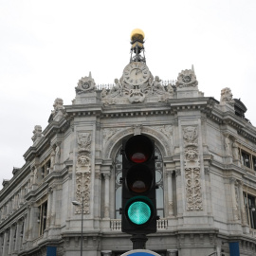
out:
<path id="1" fill-rule="evenodd" d="M 57 97 L 71 104 L 89 71 L 99 84 L 120 78 L 137 27 L 154 76 L 174 80 L 193 64 L 205 96 L 230 87 L 256 125 L 255 12 L 255 0 L 1 0 L 0 189 Z"/>

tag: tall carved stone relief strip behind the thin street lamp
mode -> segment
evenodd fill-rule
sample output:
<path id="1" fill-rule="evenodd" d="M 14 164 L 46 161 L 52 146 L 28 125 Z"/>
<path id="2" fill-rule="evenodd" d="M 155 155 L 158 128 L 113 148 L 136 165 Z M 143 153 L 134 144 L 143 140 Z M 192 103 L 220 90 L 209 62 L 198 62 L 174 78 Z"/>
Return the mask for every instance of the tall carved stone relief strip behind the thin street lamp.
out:
<path id="1" fill-rule="evenodd" d="M 90 213 L 90 183 L 91 183 L 91 135 L 78 134 L 78 158 L 76 169 L 76 197 L 82 203 L 83 213 Z M 82 205 L 76 207 L 75 213 L 82 212 Z"/>

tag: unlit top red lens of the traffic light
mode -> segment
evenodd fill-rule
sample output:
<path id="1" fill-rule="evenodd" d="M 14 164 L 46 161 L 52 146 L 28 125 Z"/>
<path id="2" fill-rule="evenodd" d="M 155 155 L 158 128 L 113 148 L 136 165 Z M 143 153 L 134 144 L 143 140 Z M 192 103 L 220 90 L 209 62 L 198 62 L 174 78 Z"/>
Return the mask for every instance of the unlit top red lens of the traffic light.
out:
<path id="1" fill-rule="evenodd" d="M 134 163 L 144 163 L 153 155 L 154 146 L 150 138 L 135 136 L 128 139 L 125 145 L 126 157 Z"/>

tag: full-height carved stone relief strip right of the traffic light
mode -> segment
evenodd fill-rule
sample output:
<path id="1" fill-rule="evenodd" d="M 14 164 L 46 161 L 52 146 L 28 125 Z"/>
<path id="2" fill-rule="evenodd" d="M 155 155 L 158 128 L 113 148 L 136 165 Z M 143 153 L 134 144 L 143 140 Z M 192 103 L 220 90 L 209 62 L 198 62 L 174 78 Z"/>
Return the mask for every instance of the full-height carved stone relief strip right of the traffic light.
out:
<path id="1" fill-rule="evenodd" d="M 197 127 L 183 128 L 187 210 L 203 210 Z"/>

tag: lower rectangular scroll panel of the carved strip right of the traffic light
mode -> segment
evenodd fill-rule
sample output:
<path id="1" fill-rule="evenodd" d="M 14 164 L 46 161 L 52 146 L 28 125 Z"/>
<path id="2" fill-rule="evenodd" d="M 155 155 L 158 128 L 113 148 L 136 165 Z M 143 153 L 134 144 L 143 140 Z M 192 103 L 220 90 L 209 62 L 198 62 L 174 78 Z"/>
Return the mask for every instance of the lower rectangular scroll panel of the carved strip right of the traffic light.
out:
<path id="1" fill-rule="evenodd" d="M 187 210 L 203 210 L 200 168 L 186 168 Z"/>

